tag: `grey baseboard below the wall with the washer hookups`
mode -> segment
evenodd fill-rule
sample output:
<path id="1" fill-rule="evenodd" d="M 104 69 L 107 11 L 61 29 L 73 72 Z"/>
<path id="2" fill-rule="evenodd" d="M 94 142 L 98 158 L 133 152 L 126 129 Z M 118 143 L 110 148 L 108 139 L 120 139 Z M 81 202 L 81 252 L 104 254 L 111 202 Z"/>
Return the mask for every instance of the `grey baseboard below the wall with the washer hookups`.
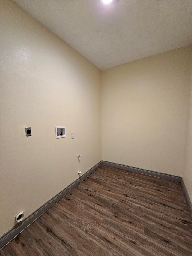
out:
<path id="1" fill-rule="evenodd" d="M 21 224 L 11 228 L 7 233 L 1 236 L 1 249 L 3 249 L 8 243 L 10 243 L 13 239 L 16 238 L 20 233 L 22 233 L 27 227 L 29 227 L 33 222 L 35 222 L 41 215 L 43 215 L 46 211 L 48 211 L 52 206 L 55 205 L 59 200 L 61 200 L 66 194 L 68 194 L 73 188 L 75 188 L 79 183 L 81 183 L 84 179 L 86 179 L 91 173 L 97 170 L 98 167 L 102 165 L 102 161 L 84 173 L 81 178 L 76 179 L 72 182 L 67 188 L 64 188 L 60 193 L 55 195 L 51 200 L 46 202 L 43 206 L 37 209 L 32 215 L 27 217 Z"/>

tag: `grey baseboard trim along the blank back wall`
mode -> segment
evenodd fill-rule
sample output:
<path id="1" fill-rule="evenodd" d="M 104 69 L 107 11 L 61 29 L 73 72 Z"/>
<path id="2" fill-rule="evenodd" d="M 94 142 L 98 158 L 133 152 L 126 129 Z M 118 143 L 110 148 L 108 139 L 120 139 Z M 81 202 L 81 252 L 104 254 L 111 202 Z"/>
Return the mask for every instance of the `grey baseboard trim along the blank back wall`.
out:
<path id="1" fill-rule="evenodd" d="M 171 174 L 167 174 L 167 173 L 154 172 L 154 171 L 145 170 L 145 169 L 141 169 L 141 168 L 137 168 L 137 167 L 133 167 L 133 166 L 128 166 L 125 164 L 116 164 L 116 163 L 108 162 L 108 161 L 102 161 L 102 164 L 108 165 L 110 167 L 127 170 L 130 172 L 143 173 L 143 174 L 159 177 L 162 179 L 168 179 L 168 180 L 176 181 L 179 183 L 181 182 L 181 179 L 182 179 L 182 177 L 179 177 L 179 176 L 175 176 L 175 175 L 171 175 Z"/>

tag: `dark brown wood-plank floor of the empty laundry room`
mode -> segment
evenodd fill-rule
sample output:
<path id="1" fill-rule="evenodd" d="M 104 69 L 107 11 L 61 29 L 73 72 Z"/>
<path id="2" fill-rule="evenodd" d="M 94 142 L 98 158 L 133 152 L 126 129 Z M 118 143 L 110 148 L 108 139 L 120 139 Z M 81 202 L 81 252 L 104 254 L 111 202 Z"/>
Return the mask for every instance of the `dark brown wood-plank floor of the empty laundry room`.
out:
<path id="1" fill-rule="evenodd" d="M 1 255 L 192 255 L 179 183 L 102 166 Z"/>

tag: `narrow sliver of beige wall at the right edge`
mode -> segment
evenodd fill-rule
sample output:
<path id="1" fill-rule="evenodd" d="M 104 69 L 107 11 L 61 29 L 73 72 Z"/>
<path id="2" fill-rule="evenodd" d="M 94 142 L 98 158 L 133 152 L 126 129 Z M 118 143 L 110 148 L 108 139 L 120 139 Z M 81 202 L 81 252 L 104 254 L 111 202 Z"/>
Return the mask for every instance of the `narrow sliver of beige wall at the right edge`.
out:
<path id="1" fill-rule="evenodd" d="M 192 60 L 192 54 L 191 54 L 191 60 Z M 192 63 L 191 63 L 191 66 L 192 66 Z M 188 107 L 183 180 L 187 187 L 187 191 L 189 193 L 190 199 L 192 201 L 192 72 L 191 72 L 191 85 L 190 85 L 190 102 Z"/>

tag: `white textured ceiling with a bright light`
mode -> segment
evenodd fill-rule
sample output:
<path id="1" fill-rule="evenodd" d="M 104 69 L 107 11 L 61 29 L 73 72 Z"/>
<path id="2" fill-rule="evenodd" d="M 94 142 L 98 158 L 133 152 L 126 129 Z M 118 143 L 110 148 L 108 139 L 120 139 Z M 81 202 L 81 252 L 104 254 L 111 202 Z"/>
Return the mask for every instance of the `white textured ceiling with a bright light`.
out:
<path id="1" fill-rule="evenodd" d="M 192 44 L 192 1 L 15 0 L 99 69 Z"/>

